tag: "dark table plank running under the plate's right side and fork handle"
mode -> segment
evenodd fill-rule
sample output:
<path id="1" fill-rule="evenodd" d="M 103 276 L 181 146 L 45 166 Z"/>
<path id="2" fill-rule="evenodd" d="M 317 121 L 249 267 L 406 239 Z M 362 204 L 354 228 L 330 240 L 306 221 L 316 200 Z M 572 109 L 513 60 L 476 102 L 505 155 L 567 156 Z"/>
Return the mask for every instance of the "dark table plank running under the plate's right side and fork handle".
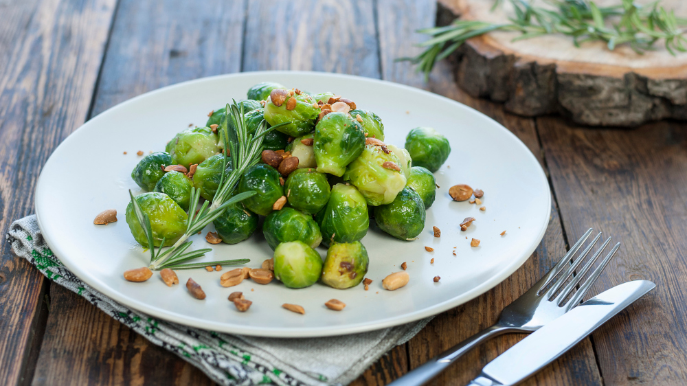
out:
<path id="1" fill-rule="evenodd" d="M 418 4 L 419 3 L 419 4 Z M 379 0 L 379 39 L 382 76 L 386 80 L 429 89 L 486 113 L 513 131 L 544 165 L 534 121 L 504 113 L 502 106 L 484 100 L 475 100 L 455 87 L 448 63 L 439 63 L 428 83 L 409 63 L 394 62 L 396 58 L 414 56 L 418 49 L 410 42 L 418 42 L 412 33 L 419 27 L 434 25 L 436 4 L 432 0 L 404 3 Z M 552 207 L 552 217 L 545 237 L 532 257 L 511 277 L 488 293 L 458 308 L 438 315 L 414 339 L 409 341 L 410 367 L 425 363 L 443 350 L 459 343 L 472 334 L 491 326 L 504 308 L 534 284 L 559 258 L 565 254 L 561 222 Z M 504 335 L 466 354 L 434 383 L 438 385 L 465 385 L 479 374 L 480 369 L 517 343 L 523 334 Z M 574 350 L 546 367 L 526 385 L 598 385 L 601 379 L 594 360 L 589 339 Z"/>

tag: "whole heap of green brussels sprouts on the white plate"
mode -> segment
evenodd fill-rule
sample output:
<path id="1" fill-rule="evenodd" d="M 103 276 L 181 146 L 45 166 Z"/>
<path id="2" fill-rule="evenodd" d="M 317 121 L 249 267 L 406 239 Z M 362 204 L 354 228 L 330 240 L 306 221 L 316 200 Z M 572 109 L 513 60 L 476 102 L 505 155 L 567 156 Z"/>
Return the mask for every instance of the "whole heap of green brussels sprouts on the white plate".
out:
<path id="1" fill-rule="evenodd" d="M 271 82 L 251 87 L 241 106 L 249 133 L 262 120 L 271 126 L 288 123 L 267 134 L 262 155 L 263 160 L 275 154 L 282 160 L 295 157 L 297 168 L 288 175 L 273 161 L 249 168 L 235 194 L 256 194 L 229 206 L 214 226 L 218 238 L 236 244 L 249 238 L 265 216 L 262 232 L 274 251 L 274 275 L 285 286 L 303 288 L 318 280 L 333 288 L 359 284 L 368 271 L 360 240 L 370 219 L 401 240 L 414 240 L 423 231 L 425 211 L 436 195 L 432 173 L 451 151 L 443 135 L 420 127 L 407 135 L 405 148 L 387 145 L 384 125 L 372 111 L 333 93 L 311 94 Z M 214 198 L 225 165 L 223 132 L 217 130 L 225 114 L 225 109 L 212 111 L 205 126 L 181 131 L 164 152 L 146 155 L 131 172 L 148 191 L 135 200 L 150 218 L 155 247 L 172 245 L 183 235 L 192 187 L 205 200 Z M 226 165 L 232 170 L 230 159 Z M 135 240 L 148 247 L 131 203 L 126 223 Z M 314 250 L 321 244 L 328 247 L 324 262 Z"/>

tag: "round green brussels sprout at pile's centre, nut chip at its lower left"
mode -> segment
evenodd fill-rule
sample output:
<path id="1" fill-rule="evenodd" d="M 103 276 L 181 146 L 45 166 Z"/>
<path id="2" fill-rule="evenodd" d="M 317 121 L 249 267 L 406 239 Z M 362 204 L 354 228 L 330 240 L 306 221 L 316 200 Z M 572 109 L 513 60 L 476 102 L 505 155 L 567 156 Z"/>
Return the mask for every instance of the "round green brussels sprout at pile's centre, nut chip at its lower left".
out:
<path id="1" fill-rule="evenodd" d="M 319 212 L 329 201 L 327 177 L 315 169 L 296 169 L 284 183 L 284 192 L 289 205 L 304 214 Z"/>

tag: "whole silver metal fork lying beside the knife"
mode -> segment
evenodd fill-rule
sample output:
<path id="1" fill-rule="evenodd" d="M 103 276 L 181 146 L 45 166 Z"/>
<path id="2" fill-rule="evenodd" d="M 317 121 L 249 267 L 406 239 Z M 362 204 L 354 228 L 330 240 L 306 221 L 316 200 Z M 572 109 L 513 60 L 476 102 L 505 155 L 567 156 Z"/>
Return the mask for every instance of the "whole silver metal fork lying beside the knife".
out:
<path id="1" fill-rule="evenodd" d="M 582 281 L 583 276 L 592 268 L 592 264 L 598 260 L 603 250 L 609 245 L 609 242 L 611 242 L 611 238 L 607 238 L 601 247 L 594 253 L 592 258 L 589 259 L 587 264 L 583 266 L 581 271 L 573 277 L 574 271 L 582 264 L 585 257 L 592 251 L 592 247 L 594 247 L 596 242 L 601 238 L 601 233 L 599 233 L 589 246 L 582 251 L 579 258 L 570 264 L 572 258 L 585 241 L 587 241 L 587 238 L 589 238 L 593 230 L 594 229 L 589 228 L 582 238 L 570 248 L 570 251 L 565 254 L 563 259 L 544 275 L 537 284 L 534 284 L 526 293 L 523 293 L 523 295 L 515 299 L 513 303 L 508 304 L 508 306 L 502 310 L 499 320 L 493 326 L 481 332 L 477 332 L 477 334 L 458 343 L 439 356 L 430 359 L 424 365 L 421 365 L 412 372 L 390 383 L 390 386 L 423 385 L 442 372 L 446 367 L 449 367 L 453 361 L 477 347 L 477 345 L 480 345 L 482 342 L 508 332 L 536 331 L 541 328 L 541 326 L 567 313 L 567 311 L 571 310 L 574 306 L 580 304 L 585 293 L 587 293 L 592 284 L 596 282 L 596 279 L 598 279 L 601 272 L 606 268 L 608 262 L 613 258 L 613 255 L 616 254 L 616 251 L 618 251 L 620 247 L 620 242 L 618 242 L 596 269 L 594 269 L 592 274 L 589 275 L 587 280 L 581 284 L 578 290 L 566 302 L 565 299 L 572 294 L 576 286 Z M 570 277 L 572 277 L 572 280 L 563 287 L 563 284 L 565 284 Z M 561 287 L 563 287 L 562 290 Z"/>

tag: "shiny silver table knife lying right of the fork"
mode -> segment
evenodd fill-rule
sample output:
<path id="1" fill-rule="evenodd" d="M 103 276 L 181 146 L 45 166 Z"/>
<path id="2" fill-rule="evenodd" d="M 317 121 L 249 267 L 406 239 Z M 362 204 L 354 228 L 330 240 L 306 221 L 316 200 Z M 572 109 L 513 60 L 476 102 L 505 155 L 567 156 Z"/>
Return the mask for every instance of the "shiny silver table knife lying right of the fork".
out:
<path id="1" fill-rule="evenodd" d="M 649 280 L 635 280 L 592 297 L 497 356 L 468 386 L 506 386 L 523 381 L 655 286 Z"/>

